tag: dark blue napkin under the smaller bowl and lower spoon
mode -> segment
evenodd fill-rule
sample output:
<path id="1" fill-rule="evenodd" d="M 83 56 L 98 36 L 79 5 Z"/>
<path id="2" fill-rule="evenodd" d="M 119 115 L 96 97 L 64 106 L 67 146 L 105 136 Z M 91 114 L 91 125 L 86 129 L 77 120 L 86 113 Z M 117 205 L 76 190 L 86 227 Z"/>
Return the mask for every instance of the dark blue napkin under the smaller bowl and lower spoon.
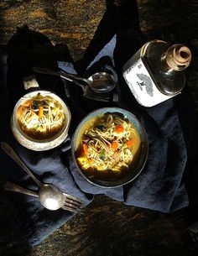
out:
<path id="1" fill-rule="evenodd" d="M 20 158 L 23 159 L 29 169 L 34 171 L 34 174 L 38 176 L 39 180 L 59 186 L 62 191 L 77 196 L 82 201 L 85 201 L 86 205 L 92 201 L 93 196 L 81 191 L 72 175 L 70 175 L 70 170 L 68 170 L 65 165 L 66 159 L 63 154 L 65 150 L 70 148 L 70 138 L 67 138 L 60 147 L 45 152 L 34 152 L 26 149 L 13 138 L 9 125 L 10 115 L 13 104 L 18 100 L 18 97 L 23 96 L 25 93 L 23 89 L 22 72 L 24 71 L 24 76 L 29 75 L 29 69 L 27 68 L 25 60 L 18 62 L 18 58 L 10 58 L 8 53 L 4 50 L 0 51 L 0 56 L 0 84 L 1 95 L 3 95 L 0 111 L 0 141 L 8 142 L 18 153 Z M 27 62 L 29 62 L 29 60 Z M 60 87 L 57 89 L 50 88 L 52 91 L 55 89 L 57 93 L 61 91 L 61 86 L 63 90 L 63 85 L 61 85 L 61 83 L 59 84 L 59 81 L 53 82 L 53 78 L 49 80 L 44 79 L 44 82 L 42 82 L 42 79 L 40 81 L 42 86 L 46 86 L 46 82 L 47 85 L 53 84 L 53 86 L 56 87 L 58 83 Z M 14 93 L 10 97 L 12 90 Z M 74 216 L 74 213 L 62 209 L 49 211 L 41 206 L 38 198 L 3 191 L 3 184 L 6 180 L 33 191 L 37 191 L 38 186 L 35 185 L 29 175 L 26 175 L 2 149 L 0 149 L 0 159 L 1 192 L 7 194 L 8 202 L 13 205 L 15 212 L 15 218 L 10 220 L 8 226 L 9 224 L 12 225 L 12 230 L 18 230 L 18 233 L 22 234 L 21 237 L 23 241 L 21 242 L 29 243 L 29 245 L 39 244 L 44 238 L 48 237 L 50 233 L 54 232 L 56 228 L 63 225 L 70 217 Z M 4 214 L 8 214 L 8 212 Z"/>

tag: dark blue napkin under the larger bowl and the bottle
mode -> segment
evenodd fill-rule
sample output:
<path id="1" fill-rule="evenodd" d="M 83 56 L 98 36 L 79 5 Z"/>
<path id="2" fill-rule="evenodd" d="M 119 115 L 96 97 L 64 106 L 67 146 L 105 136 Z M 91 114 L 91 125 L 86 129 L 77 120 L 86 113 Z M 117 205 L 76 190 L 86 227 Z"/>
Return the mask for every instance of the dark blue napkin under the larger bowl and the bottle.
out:
<path id="1" fill-rule="evenodd" d="M 181 128 L 179 118 L 180 105 L 177 104 L 177 99 L 170 99 L 155 107 L 141 107 L 123 80 L 122 65 L 144 43 L 145 39 L 137 31 L 133 29 L 122 31 L 112 38 L 87 68 L 88 71 L 104 56 L 109 56 L 116 66 L 119 75 L 116 88 L 119 95 L 117 106 L 133 112 L 142 121 L 148 134 L 148 160 L 143 172 L 128 185 L 104 189 L 84 180 L 68 156 L 70 158 L 70 170 L 81 191 L 91 194 L 106 194 L 126 205 L 139 206 L 159 212 L 174 212 L 189 204 L 185 183 L 182 180 L 187 162 L 186 143 L 189 142 L 189 138 L 185 142 L 184 131 Z M 66 70 L 64 64 L 59 63 L 59 65 Z M 72 71 L 71 66 L 70 68 Z M 68 86 L 65 85 L 65 91 L 67 92 L 67 90 Z M 188 90 L 183 91 L 182 94 L 185 95 L 185 101 L 182 102 L 183 107 L 185 104 L 186 112 L 189 113 L 189 122 L 185 131 L 193 134 L 195 133 L 193 125 L 195 123 L 195 106 Z M 180 96 L 178 97 L 180 101 Z M 85 112 L 98 107 L 94 103 L 89 104 L 85 100 L 84 102 L 85 104 L 81 105 L 81 109 L 75 105 L 72 107 L 75 116 L 81 112 L 82 118 Z M 181 113 L 181 115 L 183 114 Z"/>

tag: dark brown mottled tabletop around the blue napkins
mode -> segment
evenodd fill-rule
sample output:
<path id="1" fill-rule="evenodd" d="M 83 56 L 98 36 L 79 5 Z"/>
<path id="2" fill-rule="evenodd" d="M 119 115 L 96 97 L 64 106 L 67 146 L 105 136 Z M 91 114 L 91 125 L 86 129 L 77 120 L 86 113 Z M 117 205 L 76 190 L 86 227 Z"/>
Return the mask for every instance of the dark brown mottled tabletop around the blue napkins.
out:
<path id="1" fill-rule="evenodd" d="M 43 55 L 49 55 L 49 60 L 58 57 L 75 61 L 79 70 L 119 29 L 138 28 L 138 24 L 148 39 L 188 45 L 193 61 L 186 71 L 186 81 L 198 109 L 198 3 L 195 0 L 138 1 L 138 7 L 132 0 L 18 0 L 1 1 L 0 9 L 2 47 L 8 44 L 17 28 L 20 31 L 20 27 L 27 25 L 55 45 L 53 52 L 49 49 L 47 53 L 42 52 Z M 93 44 L 97 46 L 93 48 Z M 83 57 L 84 62 L 79 62 Z M 12 223 L 17 217 L 5 193 L 1 193 L 0 202 L 0 254 L 3 255 L 129 256 L 159 255 L 159 252 L 162 256 L 197 255 L 186 231 L 190 224 L 198 221 L 193 200 L 185 209 L 164 214 L 124 206 L 107 196 L 96 196 L 81 213 L 34 248 L 24 245 L 20 232 L 14 230 Z"/>

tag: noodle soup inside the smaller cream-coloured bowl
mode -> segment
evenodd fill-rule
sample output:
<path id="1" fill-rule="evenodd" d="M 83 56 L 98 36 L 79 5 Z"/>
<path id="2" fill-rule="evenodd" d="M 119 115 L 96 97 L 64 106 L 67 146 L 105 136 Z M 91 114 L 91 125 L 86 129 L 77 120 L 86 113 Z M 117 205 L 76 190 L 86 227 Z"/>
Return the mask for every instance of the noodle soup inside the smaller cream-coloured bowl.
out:
<path id="1" fill-rule="evenodd" d="M 49 95 L 38 93 L 25 99 L 18 106 L 16 114 L 23 133 L 34 139 L 52 138 L 65 125 L 64 108 Z"/>

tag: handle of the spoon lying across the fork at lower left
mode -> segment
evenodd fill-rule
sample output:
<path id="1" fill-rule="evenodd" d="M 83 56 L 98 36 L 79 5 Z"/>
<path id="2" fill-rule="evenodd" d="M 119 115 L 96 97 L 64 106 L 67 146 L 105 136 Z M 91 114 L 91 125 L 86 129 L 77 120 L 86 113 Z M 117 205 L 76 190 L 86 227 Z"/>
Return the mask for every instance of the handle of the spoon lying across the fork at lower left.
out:
<path id="1" fill-rule="evenodd" d="M 18 165 L 22 167 L 24 171 L 39 185 L 42 183 L 34 176 L 34 174 L 29 170 L 29 168 L 23 163 L 22 159 L 19 158 L 18 154 L 13 151 L 13 149 L 6 143 L 2 142 L 1 147 L 5 153 L 7 153 Z"/>

